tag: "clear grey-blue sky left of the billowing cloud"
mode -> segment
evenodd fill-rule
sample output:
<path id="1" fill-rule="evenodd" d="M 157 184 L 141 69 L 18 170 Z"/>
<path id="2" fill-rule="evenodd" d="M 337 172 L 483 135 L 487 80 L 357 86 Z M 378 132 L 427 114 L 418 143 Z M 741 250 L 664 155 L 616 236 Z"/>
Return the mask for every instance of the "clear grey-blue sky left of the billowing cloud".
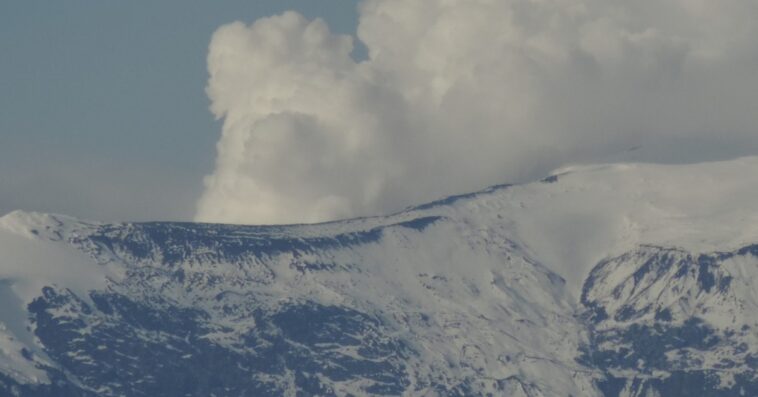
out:
<path id="1" fill-rule="evenodd" d="M 0 214 L 190 219 L 213 169 L 220 25 L 296 9 L 352 33 L 356 1 L 0 3 Z"/>

